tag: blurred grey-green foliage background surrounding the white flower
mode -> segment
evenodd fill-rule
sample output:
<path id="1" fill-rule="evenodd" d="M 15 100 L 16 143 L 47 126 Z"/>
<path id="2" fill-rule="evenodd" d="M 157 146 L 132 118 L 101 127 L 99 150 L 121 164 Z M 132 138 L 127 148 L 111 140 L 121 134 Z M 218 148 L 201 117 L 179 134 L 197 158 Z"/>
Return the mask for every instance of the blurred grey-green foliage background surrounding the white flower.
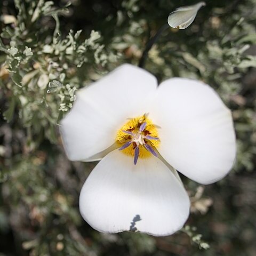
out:
<path id="1" fill-rule="evenodd" d="M 179 3 L 178 3 L 179 2 Z M 256 1 L 205 1 L 185 30 L 168 28 L 145 69 L 210 84 L 233 111 L 234 169 L 208 186 L 181 177 L 186 226 L 167 237 L 106 235 L 78 211 L 97 163 L 68 161 L 58 124 L 75 91 L 122 63 L 191 0 L 0 2 L 0 255 L 256 255 Z"/>

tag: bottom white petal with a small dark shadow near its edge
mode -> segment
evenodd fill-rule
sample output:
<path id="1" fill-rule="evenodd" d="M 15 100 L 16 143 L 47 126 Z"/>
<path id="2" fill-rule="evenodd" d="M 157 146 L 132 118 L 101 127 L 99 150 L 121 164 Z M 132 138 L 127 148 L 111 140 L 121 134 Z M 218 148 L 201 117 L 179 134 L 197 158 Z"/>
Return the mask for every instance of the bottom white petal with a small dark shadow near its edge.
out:
<path id="1" fill-rule="evenodd" d="M 138 159 L 115 150 L 94 168 L 82 188 L 83 218 L 103 233 L 124 230 L 173 234 L 188 218 L 189 198 L 181 182 L 157 157 Z"/>

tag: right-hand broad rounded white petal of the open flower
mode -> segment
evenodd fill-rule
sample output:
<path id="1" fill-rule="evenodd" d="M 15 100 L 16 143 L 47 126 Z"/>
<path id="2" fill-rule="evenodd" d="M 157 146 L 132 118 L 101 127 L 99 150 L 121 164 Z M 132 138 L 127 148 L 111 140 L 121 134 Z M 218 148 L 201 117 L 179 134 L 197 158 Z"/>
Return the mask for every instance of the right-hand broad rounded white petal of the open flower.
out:
<path id="1" fill-rule="evenodd" d="M 161 126 L 158 151 L 176 170 L 203 184 L 230 171 L 236 151 L 233 121 L 209 85 L 186 78 L 163 82 L 149 116 Z"/>

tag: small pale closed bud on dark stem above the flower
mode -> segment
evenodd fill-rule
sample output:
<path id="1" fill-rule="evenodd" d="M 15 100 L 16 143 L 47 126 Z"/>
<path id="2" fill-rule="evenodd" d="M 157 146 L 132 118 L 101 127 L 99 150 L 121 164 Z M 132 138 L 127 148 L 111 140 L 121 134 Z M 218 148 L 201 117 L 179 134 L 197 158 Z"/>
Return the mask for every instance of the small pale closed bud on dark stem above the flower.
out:
<path id="1" fill-rule="evenodd" d="M 196 18 L 198 10 L 205 6 L 204 2 L 199 2 L 195 5 L 183 6 L 171 12 L 168 17 L 168 24 L 172 28 L 185 29 Z"/>

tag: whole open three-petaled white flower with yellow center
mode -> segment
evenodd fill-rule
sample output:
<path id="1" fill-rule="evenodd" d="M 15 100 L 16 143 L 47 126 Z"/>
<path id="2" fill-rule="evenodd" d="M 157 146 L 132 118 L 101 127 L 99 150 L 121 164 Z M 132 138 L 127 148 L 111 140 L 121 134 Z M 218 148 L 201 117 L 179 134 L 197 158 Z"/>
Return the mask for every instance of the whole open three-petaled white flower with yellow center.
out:
<path id="1" fill-rule="evenodd" d="M 61 134 L 71 161 L 101 159 L 79 198 L 96 230 L 173 234 L 189 215 L 176 170 L 202 184 L 223 178 L 235 159 L 230 110 L 209 85 L 122 65 L 78 90 Z"/>

